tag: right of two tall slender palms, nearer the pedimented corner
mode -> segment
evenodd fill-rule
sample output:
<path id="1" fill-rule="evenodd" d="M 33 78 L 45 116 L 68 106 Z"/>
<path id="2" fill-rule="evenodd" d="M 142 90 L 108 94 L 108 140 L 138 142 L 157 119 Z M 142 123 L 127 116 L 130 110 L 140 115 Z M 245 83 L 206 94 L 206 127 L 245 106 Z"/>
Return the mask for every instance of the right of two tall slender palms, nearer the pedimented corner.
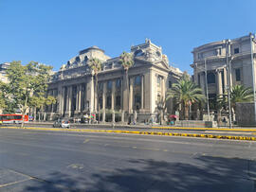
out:
<path id="1" fill-rule="evenodd" d="M 129 90 L 129 82 L 128 82 L 128 70 L 130 67 L 132 67 L 135 63 L 134 61 L 134 55 L 132 53 L 127 53 L 125 51 L 122 52 L 120 55 L 121 65 L 123 66 L 123 69 L 125 71 L 125 78 L 126 78 L 126 88 L 128 93 L 128 109 L 129 109 L 129 96 L 130 96 L 130 90 Z"/>

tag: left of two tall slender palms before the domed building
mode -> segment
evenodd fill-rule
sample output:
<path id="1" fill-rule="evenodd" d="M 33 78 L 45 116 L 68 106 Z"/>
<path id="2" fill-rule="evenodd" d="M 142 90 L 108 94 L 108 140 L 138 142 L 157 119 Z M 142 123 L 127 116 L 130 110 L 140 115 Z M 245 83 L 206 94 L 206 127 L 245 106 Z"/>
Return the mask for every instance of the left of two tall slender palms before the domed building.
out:
<path id="1" fill-rule="evenodd" d="M 94 94 L 94 100 L 98 100 L 98 73 L 101 71 L 101 61 L 97 58 L 92 58 L 88 61 L 88 65 L 92 70 L 92 76 L 95 77 L 96 92 Z M 98 105 L 98 111 L 99 111 L 99 105 Z M 100 113 L 98 118 L 100 120 Z"/>

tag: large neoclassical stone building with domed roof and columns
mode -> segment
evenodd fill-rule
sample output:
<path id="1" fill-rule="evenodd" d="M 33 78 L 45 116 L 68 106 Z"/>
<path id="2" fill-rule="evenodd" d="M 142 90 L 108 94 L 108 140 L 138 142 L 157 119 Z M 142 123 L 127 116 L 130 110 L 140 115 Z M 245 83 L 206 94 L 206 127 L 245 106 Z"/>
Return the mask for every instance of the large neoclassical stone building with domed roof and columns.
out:
<path id="1" fill-rule="evenodd" d="M 46 108 L 48 116 L 76 118 L 86 113 L 100 113 L 102 122 L 127 122 L 131 118 L 136 118 L 137 122 L 156 120 L 167 89 L 182 72 L 169 66 L 162 48 L 150 40 L 132 46 L 131 53 L 135 63 L 128 71 L 127 87 L 119 57 L 110 58 L 97 46 L 80 51 L 49 82 L 47 94 L 55 96 L 57 103 Z M 95 77 L 87 64 L 92 58 L 102 62 L 98 96 L 95 96 Z M 168 102 L 167 112 L 174 113 L 172 101 Z"/>

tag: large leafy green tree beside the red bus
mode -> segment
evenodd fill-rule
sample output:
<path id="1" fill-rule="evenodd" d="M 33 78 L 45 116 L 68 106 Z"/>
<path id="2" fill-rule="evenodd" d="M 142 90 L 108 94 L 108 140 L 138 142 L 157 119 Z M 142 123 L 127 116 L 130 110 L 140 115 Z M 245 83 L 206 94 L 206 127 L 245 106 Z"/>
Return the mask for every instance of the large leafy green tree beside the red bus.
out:
<path id="1" fill-rule="evenodd" d="M 27 113 L 32 96 L 46 96 L 47 82 L 51 66 L 35 61 L 22 65 L 21 61 L 10 62 L 7 75 L 9 78 L 8 94 L 22 114 Z M 22 123 L 22 127 L 24 123 Z"/>

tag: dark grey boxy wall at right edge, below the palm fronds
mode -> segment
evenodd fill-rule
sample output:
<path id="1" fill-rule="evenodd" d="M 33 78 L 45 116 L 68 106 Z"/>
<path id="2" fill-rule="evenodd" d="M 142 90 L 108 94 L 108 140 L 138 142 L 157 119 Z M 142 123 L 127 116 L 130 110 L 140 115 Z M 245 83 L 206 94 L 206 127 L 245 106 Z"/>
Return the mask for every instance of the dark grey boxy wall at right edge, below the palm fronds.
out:
<path id="1" fill-rule="evenodd" d="M 236 103 L 236 121 L 239 126 L 255 126 L 254 103 Z"/>

